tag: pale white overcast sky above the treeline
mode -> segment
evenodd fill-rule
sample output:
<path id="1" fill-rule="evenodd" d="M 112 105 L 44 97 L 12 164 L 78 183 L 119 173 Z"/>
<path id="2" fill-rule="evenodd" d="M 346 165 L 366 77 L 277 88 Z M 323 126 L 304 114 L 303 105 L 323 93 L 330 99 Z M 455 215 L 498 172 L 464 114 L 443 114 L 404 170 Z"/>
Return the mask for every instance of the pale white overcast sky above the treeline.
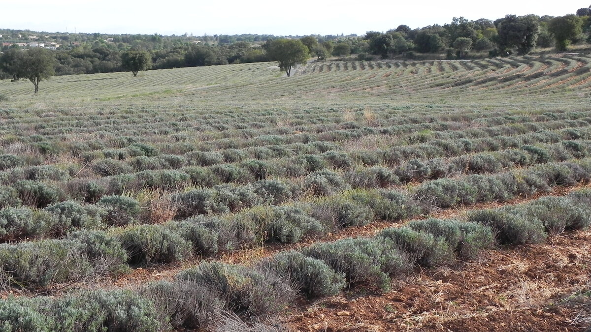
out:
<path id="1" fill-rule="evenodd" d="M 420 28 L 453 17 L 565 15 L 589 6 L 574 1 L 281 1 L 29 0 L 1 1 L 0 28 L 104 34 L 358 34 L 400 24 Z M 488 5 L 485 5 L 488 4 Z"/>

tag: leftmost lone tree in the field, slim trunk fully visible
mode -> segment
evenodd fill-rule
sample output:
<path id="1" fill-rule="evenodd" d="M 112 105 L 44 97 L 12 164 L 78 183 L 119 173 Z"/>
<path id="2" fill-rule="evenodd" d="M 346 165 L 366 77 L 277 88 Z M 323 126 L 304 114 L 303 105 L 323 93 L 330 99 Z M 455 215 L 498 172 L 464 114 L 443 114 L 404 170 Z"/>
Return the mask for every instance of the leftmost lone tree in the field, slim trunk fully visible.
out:
<path id="1" fill-rule="evenodd" d="M 20 77 L 30 80 L 39 92 L 39 82 L 56 73 L 56 58 L 53 52 L 43 47 L 29 48 L 20 61 Z"/>

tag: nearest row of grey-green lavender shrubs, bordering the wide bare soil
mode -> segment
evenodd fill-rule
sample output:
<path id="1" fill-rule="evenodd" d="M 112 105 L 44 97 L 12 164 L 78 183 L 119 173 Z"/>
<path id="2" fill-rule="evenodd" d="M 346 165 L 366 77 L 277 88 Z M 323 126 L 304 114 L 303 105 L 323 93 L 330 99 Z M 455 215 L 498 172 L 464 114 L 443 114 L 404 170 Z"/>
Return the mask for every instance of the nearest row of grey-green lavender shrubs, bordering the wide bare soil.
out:
<path id="1" fill-rule="evenodd" d="M 174 281 L 133 290 L 80 291 L 50 300 L 8 298 L 0 301 L 0 318 L 4 327 L 37 331 L 95 330 L 96 317 L 105 317 L 100 327 L 128 331 L 212 328 L 220 317 L 241 326 L 264 324 L 296 298 L 310 301 L 346 288 L 384 292 L 392 278 L 408 274 L 413 266 L 477 259 L 492 245 L 541 243 L 548 234 L 587 229 L 590 217 L 591 189 L 585 188 L 569 197 L 475 210 L 462 221 L 414 220 L 370 238 L 280 252 L 251 266 L 203 262 Z"/>

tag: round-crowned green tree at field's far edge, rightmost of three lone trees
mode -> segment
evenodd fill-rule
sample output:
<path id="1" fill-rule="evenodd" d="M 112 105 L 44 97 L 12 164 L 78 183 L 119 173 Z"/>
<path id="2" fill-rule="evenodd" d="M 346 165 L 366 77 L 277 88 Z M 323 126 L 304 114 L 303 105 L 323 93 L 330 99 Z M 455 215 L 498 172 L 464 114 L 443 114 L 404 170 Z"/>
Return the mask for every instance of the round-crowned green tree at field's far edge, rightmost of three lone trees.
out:
<path id="1" fill-rule="evenodd" d="M 308 48 L 300 40 L 278 39 L 272 41 L 267 50 L 271 60 L 279 62 L 279 68 L 289 77 L 296 64 L 304 64 L 310 57 Z"/>

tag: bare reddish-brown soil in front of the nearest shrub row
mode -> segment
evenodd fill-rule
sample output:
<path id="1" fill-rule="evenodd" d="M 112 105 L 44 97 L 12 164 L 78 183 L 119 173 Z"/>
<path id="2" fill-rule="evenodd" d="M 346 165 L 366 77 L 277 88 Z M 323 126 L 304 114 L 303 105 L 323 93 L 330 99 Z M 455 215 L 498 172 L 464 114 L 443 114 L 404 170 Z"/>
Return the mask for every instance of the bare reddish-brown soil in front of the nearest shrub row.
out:
<path id="1" fill-rule="evenodd" d="M 580 331 L 591 322 L 591 232 L 417 270 L 381 295 L 291 308 L 294 331 Z M 582 322 L 583 324 L 577 322 Z M 591 324 L 591 323 L 588 323 Z"/>

